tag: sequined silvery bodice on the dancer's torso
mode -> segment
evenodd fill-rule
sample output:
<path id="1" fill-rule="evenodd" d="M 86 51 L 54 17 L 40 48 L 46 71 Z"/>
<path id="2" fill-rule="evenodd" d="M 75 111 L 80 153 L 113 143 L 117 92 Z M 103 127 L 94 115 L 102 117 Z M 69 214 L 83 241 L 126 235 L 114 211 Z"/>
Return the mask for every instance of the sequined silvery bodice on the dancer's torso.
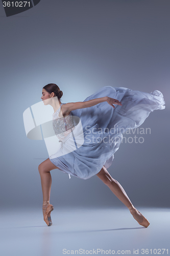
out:
<path id="1" fill-rule="evenodd" d="M 66 117 L 59 117 L 60 108 L 53 114 L 53 129 L 56 136 L 63 140 L 71 130 L 75 129 L 73 118 L 71 113 Z"/>

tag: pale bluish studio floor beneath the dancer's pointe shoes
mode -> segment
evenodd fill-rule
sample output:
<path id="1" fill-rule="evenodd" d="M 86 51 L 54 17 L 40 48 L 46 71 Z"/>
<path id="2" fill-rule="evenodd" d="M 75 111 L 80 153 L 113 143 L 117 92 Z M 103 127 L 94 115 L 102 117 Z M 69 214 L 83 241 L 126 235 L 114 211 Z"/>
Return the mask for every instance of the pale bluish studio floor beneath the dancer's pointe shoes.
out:
<path id="1" fill-rule="evenodd" d="M 1 255 L 170 253 L 170 209 L 138 210 L 150 221 L 148 228 L 140 226 L 126 208 L 55 208 L 51 227 L 43 221 L 41 209 L 1 210 Z"/>

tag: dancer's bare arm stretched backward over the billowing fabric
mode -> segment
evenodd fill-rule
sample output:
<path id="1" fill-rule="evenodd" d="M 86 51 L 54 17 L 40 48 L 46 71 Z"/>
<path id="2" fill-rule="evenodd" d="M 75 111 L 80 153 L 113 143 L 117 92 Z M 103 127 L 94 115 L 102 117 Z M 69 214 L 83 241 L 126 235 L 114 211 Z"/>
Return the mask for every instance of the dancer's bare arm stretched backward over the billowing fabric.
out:
<path id="1" fill-rule="evenodd" d="M 63 115 L 67 116 L 72 110 L 89 108 L 90 106 L 94 106 L 104 101 L 107 101 L 111 106 L 113 106 L 113 104 L 122 105 L 121 102 L 119 102 L 117 99 L 113 99 L 108 96 L 105 96 L 102 98 L 91 99 L 83 102 L 66 103 L 61 106 L 62 113 Z M 115 106 L 113 106 L 113 108 L 115 108 Z"/>

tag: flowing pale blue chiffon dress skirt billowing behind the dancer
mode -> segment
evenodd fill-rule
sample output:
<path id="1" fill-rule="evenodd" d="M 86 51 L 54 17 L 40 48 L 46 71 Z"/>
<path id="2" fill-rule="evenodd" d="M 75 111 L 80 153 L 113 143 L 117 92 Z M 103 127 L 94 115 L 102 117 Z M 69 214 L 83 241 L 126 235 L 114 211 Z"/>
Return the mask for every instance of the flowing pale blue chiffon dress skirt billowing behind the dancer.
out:
<path id="1" fill-rule="evenodd" d="M 74 151 L 68 151 L 68 154 L 50 157 L 51 162 L 62 172 L 88 179 L 98 174 L 103 166 L 108 168 L 123 139 L 123 133 L 139 127 L 154 110 L 165 109 L 163 95 L 157 90 L 145 93 L 124 87 L 107 86 L 84 101 L 104 96 L 117 99 L 122 105 L 114 104 L 114 109 L 105 101 L 89 108 L 71 111 L 71 116 L 77 116 L 81 120 L 84 143 Z M 56 113 L 59 113 L 59 110 Z M 60 151 L 66 152 L 73 143 L 69 135 L 67 137 L 63 141 L 61 139 Z"/>

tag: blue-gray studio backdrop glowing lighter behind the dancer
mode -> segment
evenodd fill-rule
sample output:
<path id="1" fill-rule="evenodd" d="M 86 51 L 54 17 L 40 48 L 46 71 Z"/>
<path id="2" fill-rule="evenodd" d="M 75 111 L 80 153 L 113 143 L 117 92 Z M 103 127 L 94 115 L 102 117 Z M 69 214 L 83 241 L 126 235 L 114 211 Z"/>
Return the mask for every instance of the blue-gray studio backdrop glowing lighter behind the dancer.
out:
<path id="1" fill-rule="evenodd" d="M 135 206 L 169 207 L 169 10 L 165 0 L 41 0 L 6 17 L 0 5 L 1 206 L 42 205 L 38 165 L 48 154 L 44 141 L 27 138 L 22 114 L 52 82 L 63 103 L 104 86 L 163 93 L 165 110 L 140 126 L 151 134 L 121 144 L 108 171 Z M 123 205 L 96 176 L 51 174 L 53 205 Z"/>

